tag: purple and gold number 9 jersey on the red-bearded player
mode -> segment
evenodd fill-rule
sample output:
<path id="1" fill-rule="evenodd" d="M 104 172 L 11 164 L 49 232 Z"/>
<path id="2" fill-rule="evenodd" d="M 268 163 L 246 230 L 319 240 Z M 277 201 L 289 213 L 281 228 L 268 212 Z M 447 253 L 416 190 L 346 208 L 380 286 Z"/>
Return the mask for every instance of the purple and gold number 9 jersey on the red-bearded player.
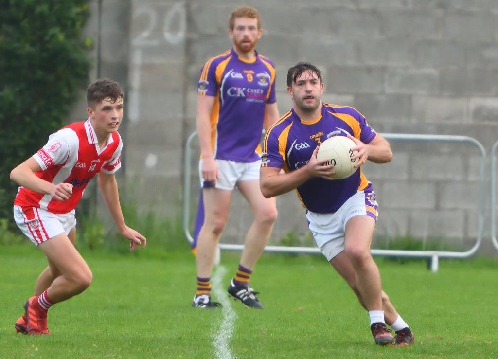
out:
<path id="1" fill-rule="evenodd" d="M 215 97 L 210 116 L 215 158 L 257 161 L 264 108 L 276 101 L 273 63 L 257 53 L 253 60 L 242 59 L 232 48 L 206 62 L 197 92 Z"/>

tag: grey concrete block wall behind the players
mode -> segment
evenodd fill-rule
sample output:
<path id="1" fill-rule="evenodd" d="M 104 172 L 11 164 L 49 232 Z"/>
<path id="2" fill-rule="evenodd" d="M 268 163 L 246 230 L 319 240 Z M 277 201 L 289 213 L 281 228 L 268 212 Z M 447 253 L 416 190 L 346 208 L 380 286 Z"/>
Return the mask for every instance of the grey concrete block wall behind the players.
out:
<path id="1" fill-rule="evenodd" d="M 239 2 L 126 3 L 127 15 L 119 19 L 127 24 L 120 38 L 127 54 L 126 179 L 137 186 L 144 207 L 155 201 L 171 215 L 180 200 L 182 147 L 195 129 L 196 79 L 206 60 L 231 46 L 227 20 Z M 468 135 L 488 150 L 498 139 L 498 1 L 247 3 L 262 16 L 257 50 L 277 67 L 280 113 L 291 106 L 287 69 L 307 60 L 323 71 L 324 101 L 354 106 L 379 132 Z M 377 237 L 471 243 L 478 153 L 446 144 L 428 145 L 425 152 L 407 143 L 393 143 L 393 148 L 391 164 L 365 167 L 381 206 Z M 305 233 L 295 196 L 279 198 L 278 204 L 272 241 L 289 229 Z M 238 193 L 233 206 L 246 207 Z M 223 240 L 241 242 L 251 218 L 249 210 L 234 211 Z"/>

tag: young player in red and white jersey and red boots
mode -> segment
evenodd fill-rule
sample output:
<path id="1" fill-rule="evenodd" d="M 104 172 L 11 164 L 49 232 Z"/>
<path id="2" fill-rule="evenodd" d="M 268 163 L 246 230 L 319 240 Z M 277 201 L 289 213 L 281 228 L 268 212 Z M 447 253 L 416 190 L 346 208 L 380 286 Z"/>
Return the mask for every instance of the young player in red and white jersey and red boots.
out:
<path id="1" fill-rule="evenodd" d="M 14 220 L 48 260 L 33 296 L 24 303 L 24 315 L 15 323 L 17 332 L 50 334 L 48 309 L 92 282 L 92 271 L 74 246 L 74 209 L 95 175 L 120 234 L 130 240 L 130 250 L 145 247 L 145 237 L 124 223 L 114 176 L 121 167 L 118 128 L 123 97 L 117 82 L 95 81 L 87 90 L 88 120 L 51 134 L 37 153 L 10 172 L 10 179 L 21 186 L 14 200 Z"/>

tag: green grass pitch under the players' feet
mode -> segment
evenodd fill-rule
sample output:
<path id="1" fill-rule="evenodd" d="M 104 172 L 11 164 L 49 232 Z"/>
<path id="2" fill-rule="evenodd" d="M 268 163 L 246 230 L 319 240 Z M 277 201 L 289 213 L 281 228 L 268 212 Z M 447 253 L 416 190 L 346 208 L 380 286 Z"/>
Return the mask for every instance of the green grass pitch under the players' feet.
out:
<path id="1" fill-rule="evenodd" d="M 223 289 L 239 253 L 222 253 Z M 13 324 L 45 261 L 31 246 L 0 251 L 0 358 L 216 358 L 221 310 L 190 307 L 195 261 L 185 251 L 84 253 L 94 282 L 54 306 L 50 336 L 15 334 Z M 377 347 L 368 315 L 319 256 L 265 254 L 251 284 L 262 311 L 231 301 L 234 358 L 497 358 L 498 263 L 491 259 L 422 261 L 377 258 L 383 288 L 412 327 L 408 348 Z M 215 298 L 216 299 L 216 298 Z"/>

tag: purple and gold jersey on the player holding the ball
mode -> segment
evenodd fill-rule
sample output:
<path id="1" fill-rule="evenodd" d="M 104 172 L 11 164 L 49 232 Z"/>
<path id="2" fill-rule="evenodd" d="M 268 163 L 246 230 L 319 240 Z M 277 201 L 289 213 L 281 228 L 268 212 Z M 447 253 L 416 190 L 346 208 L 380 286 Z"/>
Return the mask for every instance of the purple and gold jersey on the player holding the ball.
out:
<path id="1" fill-rule="evenodd" d="M 301 120 L 294 109 L 275 123 L 264 138 L 262 167 L 283 168 L 288 173 L 309 162 L 317 144 L 331 136 L 347 134 L 369 143 L 376 136 L 365 117 L 348 106 L 322 103 L 322 114 L 314 120 Z M 315 213 L 334 213 L 358 191 L 372 191 L 362 168 L 348 178 L 312 178 L 297 187 L 304 207 Z"/>

